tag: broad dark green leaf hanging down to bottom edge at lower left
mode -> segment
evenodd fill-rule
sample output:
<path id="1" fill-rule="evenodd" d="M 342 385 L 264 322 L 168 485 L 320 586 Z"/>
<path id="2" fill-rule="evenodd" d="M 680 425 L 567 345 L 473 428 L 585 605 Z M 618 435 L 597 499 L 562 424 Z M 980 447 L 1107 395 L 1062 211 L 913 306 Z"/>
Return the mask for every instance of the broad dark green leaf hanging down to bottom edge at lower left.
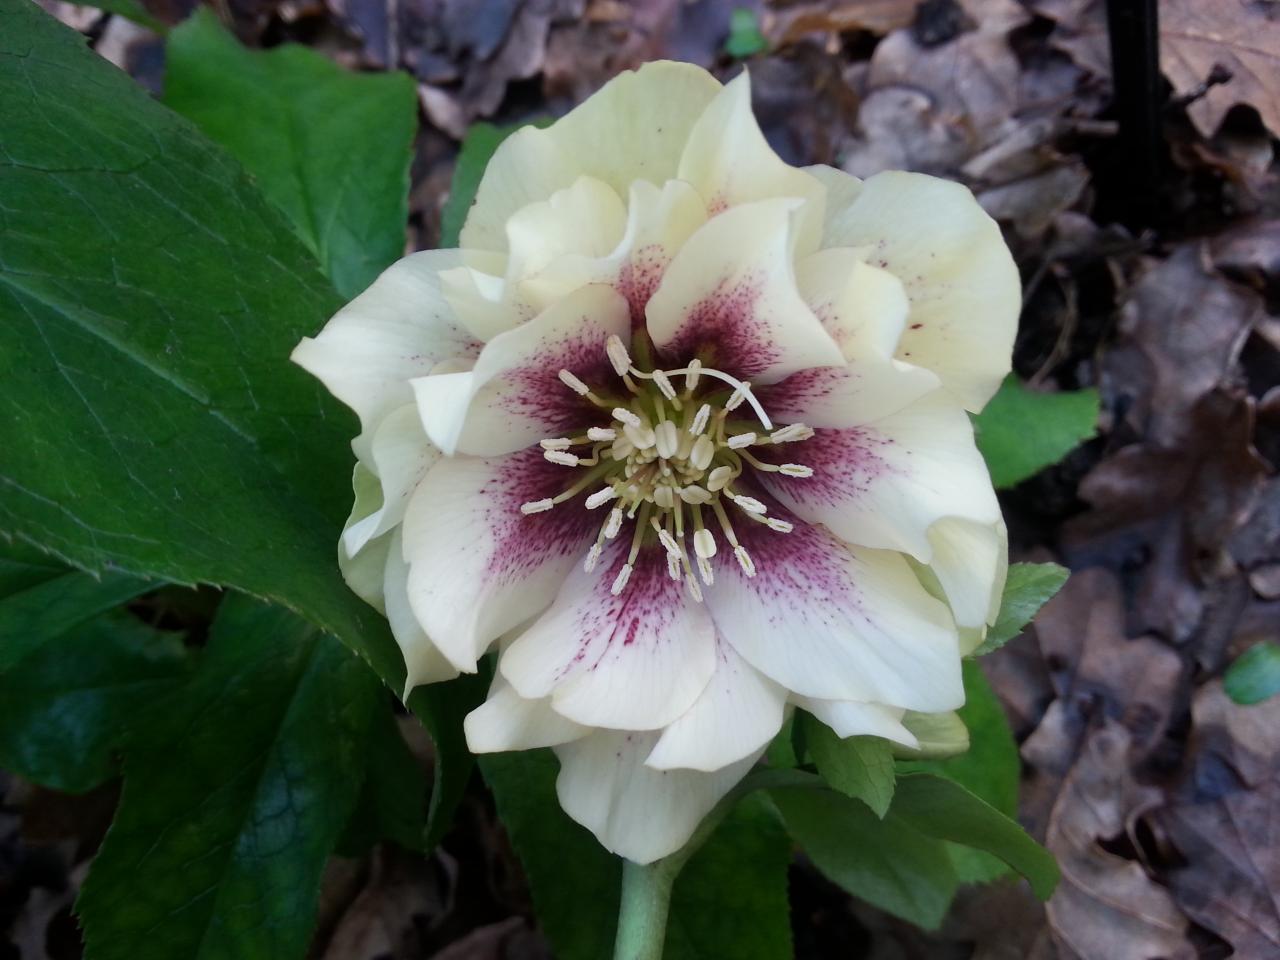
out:
<path id="1" fill-rule="evenodd" d="M 125 742 L 77 904 L 87 960 L 303 956 L 379 696 L 337 641 L 228 596 L 192 682 Z"/>

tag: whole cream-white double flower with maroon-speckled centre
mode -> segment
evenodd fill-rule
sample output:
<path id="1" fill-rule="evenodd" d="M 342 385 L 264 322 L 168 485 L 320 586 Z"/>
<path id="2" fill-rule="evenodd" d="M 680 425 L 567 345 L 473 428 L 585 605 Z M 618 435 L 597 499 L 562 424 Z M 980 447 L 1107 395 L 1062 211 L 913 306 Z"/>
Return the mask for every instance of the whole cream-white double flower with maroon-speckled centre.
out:
<path id="1" fill-rule="evenodd" d="M 462 250 L 293 358 L 360 415 L 339 556 L 408 686 L 502 640 L 471 748 L 554 746 L 564 809 L 645 863 L 790 704 L 904 744 L 961 704 L 1005 573 L 965 411 L 1018 310 L 963 187 L 791 168 L 745 76 L 655 63 L 506 141 Z"/>

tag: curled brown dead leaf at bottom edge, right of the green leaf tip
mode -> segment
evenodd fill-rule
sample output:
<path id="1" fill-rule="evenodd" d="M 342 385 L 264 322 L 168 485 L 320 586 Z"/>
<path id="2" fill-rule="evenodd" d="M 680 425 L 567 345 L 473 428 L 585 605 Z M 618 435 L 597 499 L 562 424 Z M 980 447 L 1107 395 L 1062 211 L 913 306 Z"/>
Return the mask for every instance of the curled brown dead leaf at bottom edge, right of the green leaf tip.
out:
<path id="1" fill-rule="evenodd" d="M 1114 721 L 1092 731 L 1050 818 L 1046 842 L 1062 882 L 1046 909 L 1062 960 L 1196 957 L 1187 916 L 1169 891 L 1100 844 L 1158 803 L 1157 790 L 1133 780 L 1129 746 L 1129 732 Z"/>

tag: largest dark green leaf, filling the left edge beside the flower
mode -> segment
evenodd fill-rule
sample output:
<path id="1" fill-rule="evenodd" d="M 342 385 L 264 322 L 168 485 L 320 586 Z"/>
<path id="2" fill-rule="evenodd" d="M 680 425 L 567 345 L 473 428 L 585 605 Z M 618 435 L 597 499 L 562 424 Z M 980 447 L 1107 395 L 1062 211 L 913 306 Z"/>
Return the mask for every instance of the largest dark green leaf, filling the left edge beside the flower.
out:
<path id="1" fill-rule="evenodd" d="M 399 689 L 334 562 L 355 419 L 287 360 L 337 306 L 312 257 L 234 160 L 24 0 L 0 0 L 0 531 L 274 599 Z"/>

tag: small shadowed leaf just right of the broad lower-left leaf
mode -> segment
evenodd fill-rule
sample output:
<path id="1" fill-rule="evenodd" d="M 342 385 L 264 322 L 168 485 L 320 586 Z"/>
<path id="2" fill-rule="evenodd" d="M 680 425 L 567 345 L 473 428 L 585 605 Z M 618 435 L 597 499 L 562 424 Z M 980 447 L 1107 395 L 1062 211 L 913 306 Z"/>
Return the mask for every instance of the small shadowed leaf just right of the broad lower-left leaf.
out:
<path id="1" fill-rule="evenodd" d="M 374 710 L 364 751 L 364 786 L 338 852 L 358 856 L 379 840 L 425 850 L 426 772 L 404 742 L 385 698 Z"/>

